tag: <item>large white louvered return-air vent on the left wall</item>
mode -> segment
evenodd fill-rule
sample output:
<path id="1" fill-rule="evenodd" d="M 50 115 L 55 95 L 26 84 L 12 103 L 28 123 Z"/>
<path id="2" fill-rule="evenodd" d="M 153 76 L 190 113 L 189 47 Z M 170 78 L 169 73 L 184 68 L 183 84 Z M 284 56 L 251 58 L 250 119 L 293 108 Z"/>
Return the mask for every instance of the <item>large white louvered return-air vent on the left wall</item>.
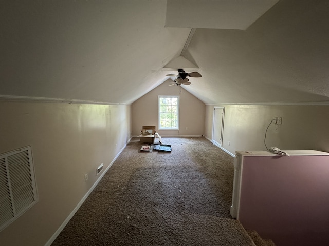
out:
<path id="1" fill-rule="evenodd" d="M 0 231 L 38 202 L 32 147 L 0 155 Z"/>

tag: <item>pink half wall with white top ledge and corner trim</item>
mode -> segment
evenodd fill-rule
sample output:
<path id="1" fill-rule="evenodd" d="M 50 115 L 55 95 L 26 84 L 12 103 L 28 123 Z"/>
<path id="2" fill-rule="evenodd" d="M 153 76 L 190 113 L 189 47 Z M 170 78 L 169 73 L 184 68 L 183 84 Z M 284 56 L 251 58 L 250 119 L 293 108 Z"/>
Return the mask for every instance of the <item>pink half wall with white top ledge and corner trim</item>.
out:
<path id="1" fill-rule="evenodd" d="M 329 153 L 237 151 L 231 215 L 277 246 L 329 245 Z"/>

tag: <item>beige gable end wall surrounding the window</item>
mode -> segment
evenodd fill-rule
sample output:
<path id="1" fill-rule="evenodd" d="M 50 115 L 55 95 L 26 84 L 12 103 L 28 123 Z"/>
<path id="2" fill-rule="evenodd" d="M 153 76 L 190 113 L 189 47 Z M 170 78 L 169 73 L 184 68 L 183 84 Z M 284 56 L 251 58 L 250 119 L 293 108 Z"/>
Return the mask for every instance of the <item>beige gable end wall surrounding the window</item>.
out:
<path id="1" fill-rule="evenodd" d="M 201 136 L 205 130 L 205 104 L 178 86 L 168 86 L 172 80 L 145 94 L 132 104 L 133 135 L 140 134 L 142 126 L 156 126 L 160 136 Z M 179 95 L 179 130 L 161 130 L 158 123 L 158 96 Z M 187 128 L 187 130 L 186 130 Z"/>

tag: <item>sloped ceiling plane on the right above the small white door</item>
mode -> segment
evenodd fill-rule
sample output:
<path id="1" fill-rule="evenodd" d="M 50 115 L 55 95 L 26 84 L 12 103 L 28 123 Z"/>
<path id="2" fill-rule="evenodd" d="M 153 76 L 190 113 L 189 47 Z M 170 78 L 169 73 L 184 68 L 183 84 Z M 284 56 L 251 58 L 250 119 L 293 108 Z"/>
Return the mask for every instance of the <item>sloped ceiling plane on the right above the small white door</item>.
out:
<path id="1" fill-rule="evenodd" d="M 242 30 L 197 29 L 185 56 L 207 103 L 329 101 L 329 4 L 280 1 Z"/>

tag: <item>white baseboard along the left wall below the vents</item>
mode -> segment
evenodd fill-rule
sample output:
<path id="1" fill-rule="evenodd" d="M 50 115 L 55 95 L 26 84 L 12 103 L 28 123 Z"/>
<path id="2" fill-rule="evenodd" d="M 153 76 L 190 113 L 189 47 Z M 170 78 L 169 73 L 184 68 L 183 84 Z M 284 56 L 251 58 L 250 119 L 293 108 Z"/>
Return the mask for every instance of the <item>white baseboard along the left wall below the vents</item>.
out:
<path id="1" fill-rule="evenodd" d="M 129 139 L 128 142 L 130 142 L 132 138 Z M 64 222 L 61 224 L 61 226 L 56 230 L 56 232 L 50 237 L 50 239 L 47 241 L 47 243 L 45 244 L 45 246 L 50 246 L 51 243 L 53 243 L 53 241 L 58 237 L 58 235 L 61 233 L 61 231 L 64 229 L 64 227 L 66 226 L 66 224 L 68 223 L 68 221 L 70 221 L 70 219 L 75 215 L 75 213 L 79 210 L 79 208 L 81 207 L 82 203 L 87 199 L 87 197 L 90 195 L 90 193 L 92 193 L 92 191 L 95 189 L 95 187 L 98 185 L 99 181 L 104 177 L 105 173 L 108 171 L 108 169 L 113 165 L 114 161 L 119 157 L 119 155 L 121 154 L 121 152 L 124 150 L 124 148 L 127 146 L 127 144 L 125 144 L 123 146 L 123 148 L 119 151 L 119 153 L 114 157 L 114 159 L 111 161 L 111 163 L 109 163 L 108 167 L 104 170 L 104 172 L 99 176 L 99 178 L 96 180 L 96 182 L 94 183 L 94 185 L 89 189 L 89 191 L 84 195 L 84 197 L 79 201 L 79 203 L 77 204 L 77 206 L 74 208 L 74 210 L 72 210 L 72 212 L 67 216 L 67 218 L 64 220 Z"/>

